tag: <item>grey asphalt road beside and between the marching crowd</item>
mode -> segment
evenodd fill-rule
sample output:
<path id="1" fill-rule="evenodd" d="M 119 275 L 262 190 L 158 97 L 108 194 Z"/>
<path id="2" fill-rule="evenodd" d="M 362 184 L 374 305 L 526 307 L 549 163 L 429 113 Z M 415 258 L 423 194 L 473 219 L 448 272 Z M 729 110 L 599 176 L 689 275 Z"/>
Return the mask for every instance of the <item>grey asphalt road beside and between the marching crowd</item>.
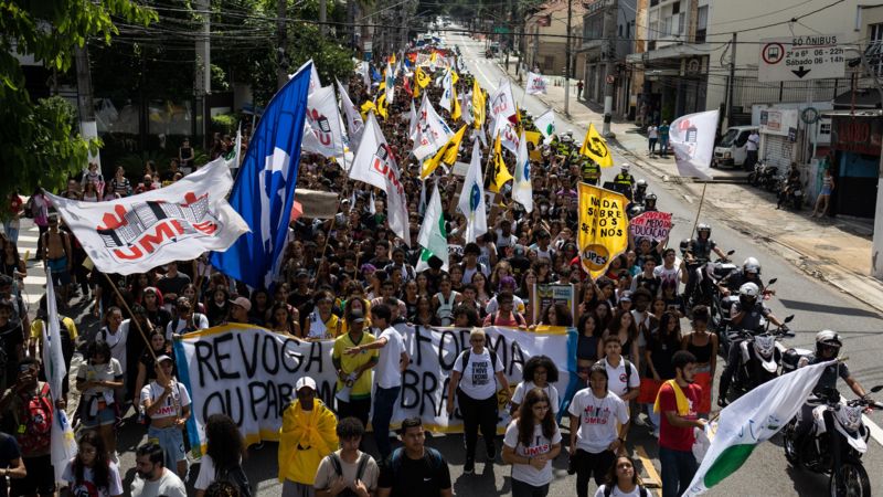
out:
<path id="1" fill-rule="evenodd" d="M 469 71 L 479 78 L 479 84 L 492 92 L 504 77 L 502 71 L 493 61 L 483 56 L 483 42 L 474 41 L 467 36 L 449 34 L 447 43 L 458 45 Z M 514 60 L 511 61 L 514 64 Z M 546 110 L 546 106 L 532 96 L 523 96 L 517 85 L 512 85 L 515 101 L 534 115 Z M 574 104 L 572 105 L 579 105 Z M 556 116 L 560 130 L 572 130 L 575 137 L 582 138 L 588 123 L 570 123 L 563 116 Z M 600 123 L 596 123 L 599 125 Z M 643 152 L 643 150 L 640 150 Z M 616 163 L 624 159 L 617 157 Z M 604 179 L 611 179 L 616 171 L 604 171 Z M 695 219 L 699 199 L 684 195 L 682 189 L 675 183 L 659 183 L 647 171 L 635 172 L 637 178 L 643 177 L 650 182 L 650 190 L 659 195 L 659 208 L 674 214 L 674 228 L 671 240 L 688 237 Z M 709 187 L 709 195 L 714 194 L 714 186 Z M 883 321 L 871 308 L 864 306 L 852 297 L 841 294 L 825 283 L 809 278 L 797 271 L 781 256 L 769 248 L 762 240 L 756 240 L 749 232 L 731 229 L 714 219 L 714 212 L 703 214 L 701 221 L 712 224 L 712 237 L 725 250 L 735 250 L 734 260 L 742 261 L 753 255 L 763 263 L 763 276 L 766 279 L 777 277 L 776 288 L 778 295 L 768 302 L 773 311 L 784 317 L 796 315 L 791 329 L 797 337 L 789 341 L 795 347 L 811 347 L 815 334 L 822 328 L 834 329 L 841 334 L 845 346 L 843 353 L 849 357 L 849 366 L 854 377 L 870 388 L 883 383 L 883 368 L 880 367 L 880 357 L 883 352 L 883 341 L 880 340 Z M 745 219 L 751 220 L 752 207 L 745 205 Z M 36 229 L 22 226 L 22 252 L 30 250 L 33 253 L 36 245 Z M 44 279 L 40 277 L 41 265 L 29 264 L 31 276 L 25 282 L 25 292 L 31 303 L 36 302 L 42 294 Z M 77 310 L 82 311 L 82 307 Z M 82 315 L 81 315 L 82 316 Z M 684 324 L 685 325 L 685 324 Z M 95 321 L 88 317 L 81 326 L 83 331 L 97 329 Z M 719 371 L 722 368 L 719 368 Z M 715 382 L 716 384 L 716 382 Z M 845 389 L 845 385 L 842 385 Z M 73 391 L 73 390 L 72 390 Z M 850 398 L 851 393 L 844 394 Z M 872 414 L 877 423 L 883 421 L 880 413 Z M 881 423 L 883 424 L 883 423 Z M 877 431 L 877 433 L 880 433 Z M 565 438 L 566 438 L 565 434 Z M 134 476 L 134 448 L 146 441 L 146 429 L 141 425 L 127 423 L 120 431 L 120 466 L 125 477 L 125 487 L 128 488 Z M 865 467 L 872 478 L 872 487 L 880 491 L 883 489 L 883 447 L 881 436 L 870 443 L 870 448 L 864 457 Z M 479 448 L 478 464 L 475 475 L 462 475 L 464 450 L 462 437 L 459 435 L 434 436 L 427 443 L 439 448 L 448 457 L 454 482 L 454 489 L 462 497 L 487 497 L 491 495 L 510 494 L 510 469 L 502 465 L 498 457 L 496 464 L 487 464 L 482 459 Z M 480 445 L 480 444 L 479 444 Z M 373 442 L 368 442 L 369 451 Z M 632 455 L 643 451 L 649 464 L 659 468 L 657 459 L 656 441 L 640 427 L 632 427 L 629 436 L 629 451 Z M 257 495 L 272 497 L 281 494 L 281 486 L 276 480 L 277 445 L 266 443 L 263 448 L 252 447 L 249 457 L 245 463 L 248 477 L 257 486 Z M 573 496 L 575 477 L 566 474 L 566 457 L 560 456 L 554 463 L 555 480 L 550 490 L 550 496 Z M 192 477 L 195 478 L 195 466 Z M 820 475 L 795 470 L 785 461 L 778 437 L 770 443 L 759 446 L 748 458 L 744 467 L 728 479 L 721 483 L 710 495 L 715 496 L 821 496 L 827 490 L 828 478 Z M 591 485 L 589 488 L 594 488 Z"/>

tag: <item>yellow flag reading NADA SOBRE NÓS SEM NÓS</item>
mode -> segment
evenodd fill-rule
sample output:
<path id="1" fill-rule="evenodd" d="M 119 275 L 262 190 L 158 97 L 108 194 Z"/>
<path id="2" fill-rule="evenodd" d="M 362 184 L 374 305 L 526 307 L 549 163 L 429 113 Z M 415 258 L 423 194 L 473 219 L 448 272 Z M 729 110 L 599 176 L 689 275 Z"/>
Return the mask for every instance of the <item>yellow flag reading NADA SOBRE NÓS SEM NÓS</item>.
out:
<path id="1" fill-rule="evenodd" d="M 621 193 L 579 183 L 579 260 L 593 279 L 628 246 L 626 204 Z"/>

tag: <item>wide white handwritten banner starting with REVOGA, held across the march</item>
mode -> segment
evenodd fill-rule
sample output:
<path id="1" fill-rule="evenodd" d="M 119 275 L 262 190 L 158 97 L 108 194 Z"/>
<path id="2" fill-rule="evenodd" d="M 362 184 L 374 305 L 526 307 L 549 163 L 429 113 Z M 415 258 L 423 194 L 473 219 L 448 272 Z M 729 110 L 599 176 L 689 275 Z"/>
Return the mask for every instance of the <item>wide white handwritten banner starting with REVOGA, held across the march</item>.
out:
<path id="1" fill-rule="evenodd" d="M 426 429 L 459 433 L 459 413 L 448 419 L 447 380 L 455 361 L 469 347 L 469 329 L 397 327 L 411 356 L 402 373 L 402 394 L 396 401 L 393 423 L 418 416 Z M 575 330 L 538 328 L 526 332 L 515 328 L 485 328 L 487 347 L 503 364 L 512 388 L 521 381 L 528 359 L 547 356 L 558 364 L 555 388 L 564 400 L 575 373 Z M 227 414 L 240 426 L 247 444 L 277 441 L 281 413 L 295 395 L 297 380 L 309 376 L 317 383 L 317 396 L 333 406 L 333 340 L 298 341 L 291 337 L 249 325 L 226 325 L 187 334 L 174 342 L 179 379 L 191 392 L 193 416 L 188 422 L 191 446 L 204 446 L 205 420 L 216 413 Z M 372 372 L 366 372 L 371 374 Z M 510 417 L 500 406 L 498 430 Z"/>

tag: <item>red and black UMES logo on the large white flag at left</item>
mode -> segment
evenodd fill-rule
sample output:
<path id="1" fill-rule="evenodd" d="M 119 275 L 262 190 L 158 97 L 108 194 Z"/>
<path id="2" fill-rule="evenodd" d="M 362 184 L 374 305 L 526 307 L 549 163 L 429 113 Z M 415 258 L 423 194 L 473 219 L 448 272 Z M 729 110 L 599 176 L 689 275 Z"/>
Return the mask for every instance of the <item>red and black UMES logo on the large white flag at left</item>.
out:
<path id="1" fill-rule="evenodd" d="M 194 236 L 211 236 L 219 230 L 217 218 L 209 211 L 209 193 L 184 195 L 183 203 L 148 200 L 116 205 L 96 226 L 110 254 L 119 262 L 150 257 L 158 248 Z"/>

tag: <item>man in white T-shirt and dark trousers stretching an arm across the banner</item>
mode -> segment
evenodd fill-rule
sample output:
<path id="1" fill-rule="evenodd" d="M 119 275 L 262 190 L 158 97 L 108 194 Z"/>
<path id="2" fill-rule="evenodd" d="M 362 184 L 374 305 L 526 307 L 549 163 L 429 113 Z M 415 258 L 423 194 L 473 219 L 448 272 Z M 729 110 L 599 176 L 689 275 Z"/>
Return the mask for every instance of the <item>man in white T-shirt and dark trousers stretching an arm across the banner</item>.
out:
<path id="1" fill-rule="evenodd" d="M 392 309 L 386 304 L 371 307 L 371 324 L 379 330 L 377 339 L 371 343 L 351 347 L 344 351 L 358 355 L 363 350 L 380 349 L 377 366 L 374 369 L 374 416 L 371 426 L 374 429 L 374 441 L 377 444 L 381 459 L 385 459 L 392 452 L 390 445 L 390 420 L 393 417 L 395 401 L 402 390 L 402 372 L 407 369 L 411 358 L 405 351 L 402 335 L 390 326 Z M 375 331 L 376 332 L 376 331 Z"/>

